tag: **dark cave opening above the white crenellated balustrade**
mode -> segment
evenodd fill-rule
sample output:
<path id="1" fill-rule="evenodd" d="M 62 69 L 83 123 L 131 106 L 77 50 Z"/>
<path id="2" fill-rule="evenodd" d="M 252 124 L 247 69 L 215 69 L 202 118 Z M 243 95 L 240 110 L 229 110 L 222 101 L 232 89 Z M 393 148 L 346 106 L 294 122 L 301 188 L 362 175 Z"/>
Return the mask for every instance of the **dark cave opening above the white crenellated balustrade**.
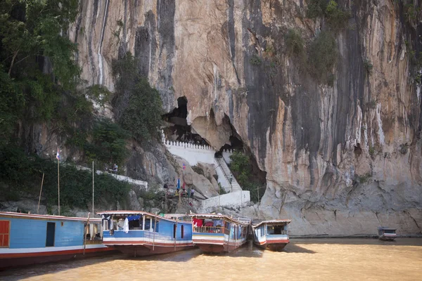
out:
<path id="1" fill-rule="evenodd" d="M 167 123 L 165 126 L 165 138 L 169 141 L 181 141 L 197 145 L 208 145 L 195 130 L 188 125 L 188 99 L 185 96 L 177 98 L 177 107 L 172 112 L 162 115 Z"/>

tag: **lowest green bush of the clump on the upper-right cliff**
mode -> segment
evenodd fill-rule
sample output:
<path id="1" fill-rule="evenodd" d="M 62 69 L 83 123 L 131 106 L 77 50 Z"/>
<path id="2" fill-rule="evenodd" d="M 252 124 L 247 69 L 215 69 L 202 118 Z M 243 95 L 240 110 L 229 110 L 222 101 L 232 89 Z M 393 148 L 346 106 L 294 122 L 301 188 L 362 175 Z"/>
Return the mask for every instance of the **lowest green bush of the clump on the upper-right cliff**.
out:
<path id="1" fill-rule="evenodd" d="M 309 46 L 308 70 L 317 81 L 331 86 L 333 67 L 337 62 L 337 45 L 333 34 L 320 32 Z"/>

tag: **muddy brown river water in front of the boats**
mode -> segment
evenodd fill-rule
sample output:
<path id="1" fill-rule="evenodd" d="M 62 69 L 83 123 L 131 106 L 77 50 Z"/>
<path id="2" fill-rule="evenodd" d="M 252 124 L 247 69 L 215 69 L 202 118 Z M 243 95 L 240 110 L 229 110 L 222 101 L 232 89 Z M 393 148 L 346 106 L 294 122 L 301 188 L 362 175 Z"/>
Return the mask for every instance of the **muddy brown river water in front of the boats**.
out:
<path id="1" fill-rule="evenodd" d="M 0 280 L 422 280 L 422 239 L 295 239 L 282 252 L 246 244 L 221 255 L 114 254 L 6 270 Z"/>

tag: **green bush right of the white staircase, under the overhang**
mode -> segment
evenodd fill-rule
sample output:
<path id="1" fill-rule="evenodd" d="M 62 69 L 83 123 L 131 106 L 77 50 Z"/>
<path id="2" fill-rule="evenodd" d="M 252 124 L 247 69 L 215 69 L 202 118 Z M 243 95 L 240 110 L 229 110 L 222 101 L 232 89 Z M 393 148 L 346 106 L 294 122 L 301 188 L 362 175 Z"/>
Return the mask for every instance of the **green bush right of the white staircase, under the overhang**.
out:
<path id="1" fill-rule="evenodd" d="M 252 162 L 243 152 L 234 151 L 230 156 L 230 170 L 243 190 L 250 191 L 250 200 L 258 202 L 264 195 L 265 188 L 252 172 Z M 259 197 L 258 197 L 259 192 Z"/>

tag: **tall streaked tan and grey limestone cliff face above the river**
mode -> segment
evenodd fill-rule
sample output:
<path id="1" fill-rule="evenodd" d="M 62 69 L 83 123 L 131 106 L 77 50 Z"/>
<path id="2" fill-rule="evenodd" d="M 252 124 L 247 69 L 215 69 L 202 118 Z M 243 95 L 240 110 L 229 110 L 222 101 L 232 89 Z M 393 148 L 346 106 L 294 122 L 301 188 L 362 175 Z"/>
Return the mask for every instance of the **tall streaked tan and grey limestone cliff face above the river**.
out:
<path id="1" fill-rule="evenodd" d="M 82 1 L 70 38 L 89 84 L 113 91 L 111 62 L 130 51 L 167 112 L 186 97 L 188 124 L 218 149 L 236 133 L 267 172 L 258 216 L 292 218 L 294 234 L 421 233 L 421 85 L 406 42 L 421 51 L 422 25 L 397 1 L 349 2 L 333 86 L 286 53 L 288 28 L 309 42 L 324 25 L 302 0 Z"/>

